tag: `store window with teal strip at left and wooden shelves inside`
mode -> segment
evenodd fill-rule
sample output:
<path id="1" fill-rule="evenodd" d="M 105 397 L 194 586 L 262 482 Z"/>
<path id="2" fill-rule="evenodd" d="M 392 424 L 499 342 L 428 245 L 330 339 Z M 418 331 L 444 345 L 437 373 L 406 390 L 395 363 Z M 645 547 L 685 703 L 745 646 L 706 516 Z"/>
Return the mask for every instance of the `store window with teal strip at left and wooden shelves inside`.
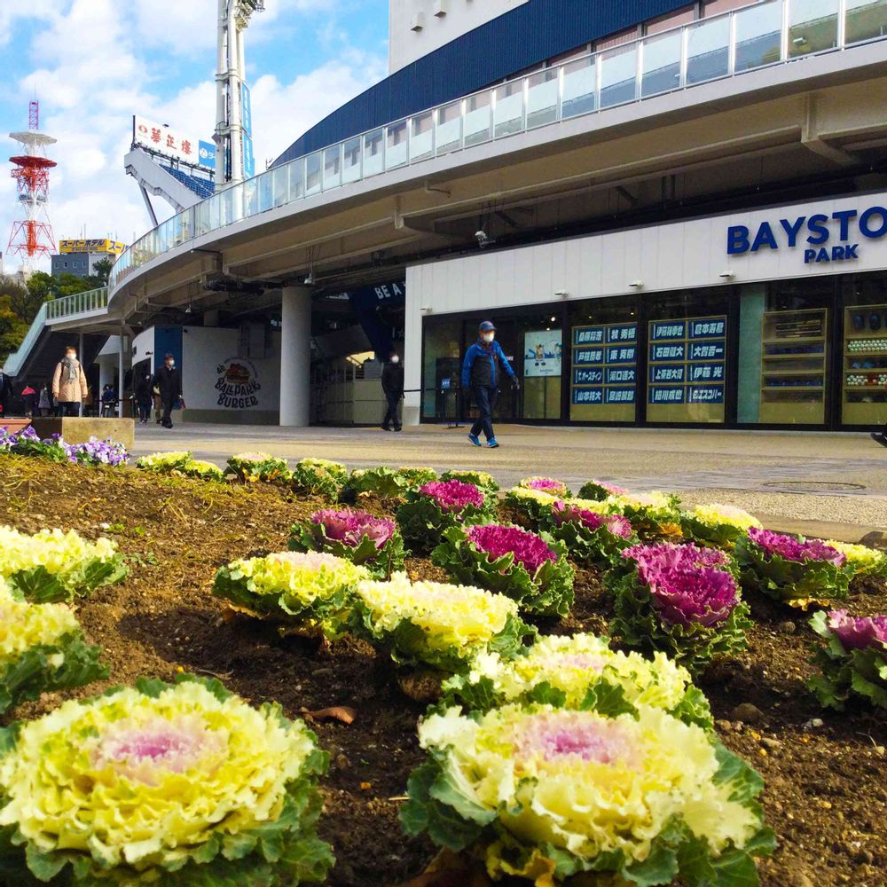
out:
<path id="1" fill-rule="evenodd" d="M 831 279 L 742 287 L 740 422 L 825 423 L 834 287 Z"/>

